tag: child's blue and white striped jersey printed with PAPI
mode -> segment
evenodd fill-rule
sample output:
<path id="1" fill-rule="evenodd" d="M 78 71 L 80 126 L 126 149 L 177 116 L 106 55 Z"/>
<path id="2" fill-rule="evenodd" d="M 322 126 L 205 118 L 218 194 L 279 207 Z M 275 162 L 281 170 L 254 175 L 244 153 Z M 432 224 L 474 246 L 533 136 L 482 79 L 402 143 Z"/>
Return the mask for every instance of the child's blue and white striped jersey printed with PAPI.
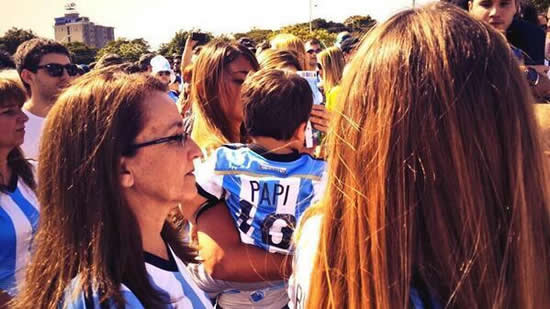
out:
<path id="1" fill-rule="evenodd" d="M 308 154 L 232 144 L 198 164 L 195 176 L 207 198 L 225 198 L 243 243 L 291 254 L 294 227 L 319 198 L 325 166 Z"/>

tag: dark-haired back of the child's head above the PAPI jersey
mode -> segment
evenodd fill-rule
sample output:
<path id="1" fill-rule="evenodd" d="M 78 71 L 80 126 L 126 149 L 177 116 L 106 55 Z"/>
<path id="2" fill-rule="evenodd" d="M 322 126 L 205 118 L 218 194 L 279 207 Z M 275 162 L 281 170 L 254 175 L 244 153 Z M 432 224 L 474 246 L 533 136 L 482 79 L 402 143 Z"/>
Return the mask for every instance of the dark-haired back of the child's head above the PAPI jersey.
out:
<path id="1" fill-rule="evenodd" d="M 241 97 L 248 135 L 279 141 L 288 141 L 299 128 L 305 128 L 313 104 L 305 79 L 277 69 L 262 69 L 248 77 Z"/>

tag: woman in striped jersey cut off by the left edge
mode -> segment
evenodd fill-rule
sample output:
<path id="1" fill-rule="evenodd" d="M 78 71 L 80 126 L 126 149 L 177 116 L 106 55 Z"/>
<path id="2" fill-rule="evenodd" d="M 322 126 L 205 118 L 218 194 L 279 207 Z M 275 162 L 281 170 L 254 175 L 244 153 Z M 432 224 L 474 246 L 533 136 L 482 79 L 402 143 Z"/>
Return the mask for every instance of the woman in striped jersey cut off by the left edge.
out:
<path id="1" fill-rule="evenodd" d="M 31 164 L 19 148 L 29 117 L 15 70 L 0 72 L 0 308 L 16 295 L 30 258 L 39 208 Z"/>

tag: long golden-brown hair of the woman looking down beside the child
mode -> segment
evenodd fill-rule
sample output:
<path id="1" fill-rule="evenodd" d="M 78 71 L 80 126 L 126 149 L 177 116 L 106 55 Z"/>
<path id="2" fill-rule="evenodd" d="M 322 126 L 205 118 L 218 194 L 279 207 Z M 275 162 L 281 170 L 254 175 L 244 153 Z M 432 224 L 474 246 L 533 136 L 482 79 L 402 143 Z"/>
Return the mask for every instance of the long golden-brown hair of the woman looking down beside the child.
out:
<path id="1" fill-rule="evenodd" d="M 224 73 L 229 72 L 229 64 L 240 56 L 258 70 L 254 54 L 246 47 L 221 40 L 205 45 L 193 66 L 191 101 L 195 118 L 192 138 L 201 149 L 243 141 L 244 130 L 232 132 L 222 108 L 224 104 L 234 103 L 229 102 L 229 85 L 224 80 Z"/>

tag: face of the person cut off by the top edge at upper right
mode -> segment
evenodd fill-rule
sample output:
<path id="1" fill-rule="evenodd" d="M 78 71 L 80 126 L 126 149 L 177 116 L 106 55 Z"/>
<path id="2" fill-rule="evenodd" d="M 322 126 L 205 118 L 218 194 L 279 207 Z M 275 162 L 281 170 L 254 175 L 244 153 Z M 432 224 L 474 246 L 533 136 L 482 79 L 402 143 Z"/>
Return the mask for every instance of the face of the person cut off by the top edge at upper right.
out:
<path id="1" fill-rule="evenodd" d="M 468 11 L 500 32 L 506 32 L 517 12 L 516 0 L 471 0 Z"/>

